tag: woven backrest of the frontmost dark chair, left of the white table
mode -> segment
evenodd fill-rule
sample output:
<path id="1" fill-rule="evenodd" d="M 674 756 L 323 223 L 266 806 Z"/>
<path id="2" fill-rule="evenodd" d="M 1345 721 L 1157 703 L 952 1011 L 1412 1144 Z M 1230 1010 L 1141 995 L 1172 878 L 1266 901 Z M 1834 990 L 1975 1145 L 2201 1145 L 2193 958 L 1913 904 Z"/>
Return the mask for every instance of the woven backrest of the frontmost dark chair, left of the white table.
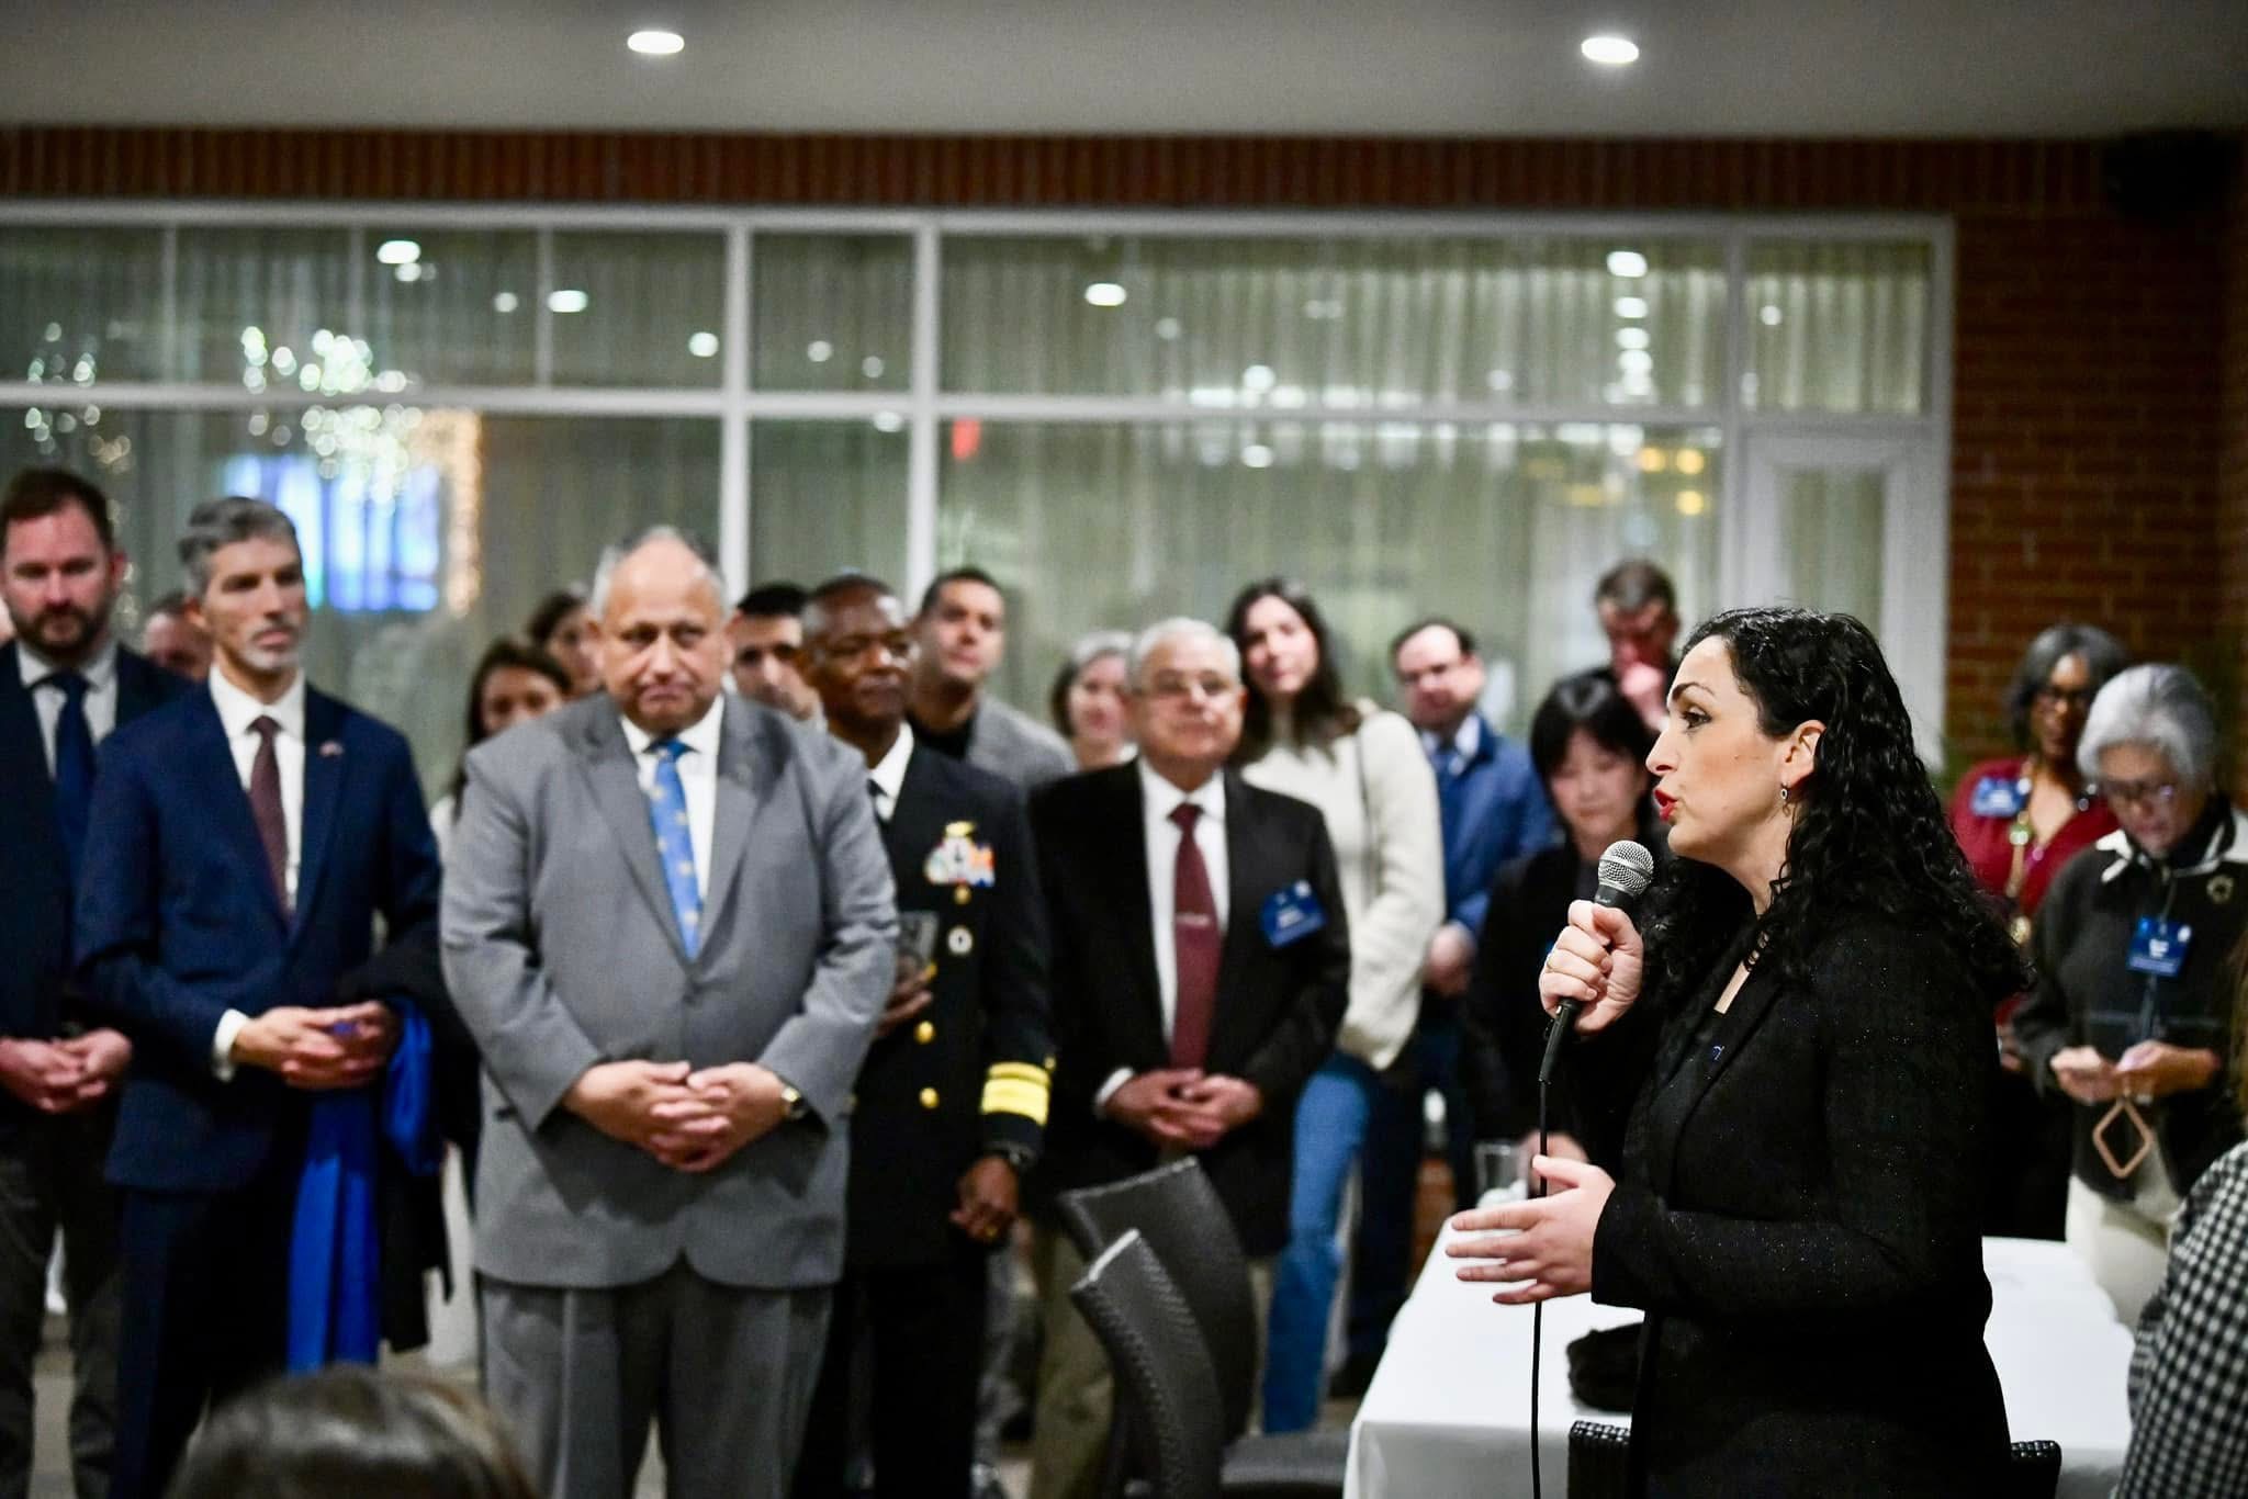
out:
<path id="1" fill-rule="evenodd" d="M 1117 1409 L 1128 1414 L 1133 1495 L 1218 1499 L 1225 1432 L 1218 1382 L 1185 1297 L 1137 1232 L 1117 1238 L 1070 1285 L 1070 1301 L 1108 1351 Z"/>

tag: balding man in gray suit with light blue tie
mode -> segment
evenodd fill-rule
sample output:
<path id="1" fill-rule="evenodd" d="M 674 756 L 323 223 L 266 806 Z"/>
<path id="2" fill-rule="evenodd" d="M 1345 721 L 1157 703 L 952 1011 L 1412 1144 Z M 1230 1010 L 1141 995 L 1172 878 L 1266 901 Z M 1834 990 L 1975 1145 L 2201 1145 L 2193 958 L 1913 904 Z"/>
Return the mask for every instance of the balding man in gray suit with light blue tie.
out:
<path id="1" fill-rule="evenodd" d="M 468 760 L 445 980 L 483 1052 L 486 1393 L 551 1499 L 789 1492 L 897 910 L 865 764 L 728 699 L 706 555 L 602 557 L 605 694 Z"/>

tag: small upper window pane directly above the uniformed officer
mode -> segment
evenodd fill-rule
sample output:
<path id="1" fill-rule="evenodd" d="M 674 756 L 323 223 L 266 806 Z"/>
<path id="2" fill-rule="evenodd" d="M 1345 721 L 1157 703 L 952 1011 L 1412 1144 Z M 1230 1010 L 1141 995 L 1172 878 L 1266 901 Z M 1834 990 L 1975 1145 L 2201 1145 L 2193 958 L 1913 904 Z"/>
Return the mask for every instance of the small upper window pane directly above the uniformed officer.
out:
<path id="1" fill-rule="evenodd" d="M 904 391 L 913 380 L 913 240 L 760 234 L 751 243 L 760 391 Z"/>

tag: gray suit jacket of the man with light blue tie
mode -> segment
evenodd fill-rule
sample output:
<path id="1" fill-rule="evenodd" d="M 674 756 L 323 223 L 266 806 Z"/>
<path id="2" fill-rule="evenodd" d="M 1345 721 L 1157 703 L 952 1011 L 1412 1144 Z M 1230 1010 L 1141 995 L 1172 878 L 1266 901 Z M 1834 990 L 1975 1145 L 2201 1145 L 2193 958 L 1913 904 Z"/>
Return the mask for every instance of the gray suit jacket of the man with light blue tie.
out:
<path id="1" fill-rule="evenodd" d="M 897 908 L 865 764 L 726 699 L 704 942 L 688 962 L 632 751 L 596 694 L 481 744 L 452 836 L 445 982 L 483 1052 L 477 1268 L 629 1285 L 681 1256 L 794 1290 L 843 1270 L 850 1090 Z M 593 1063 L 755 1061 L 812 1117 L 688 1175 L 560 1108 Z"/>

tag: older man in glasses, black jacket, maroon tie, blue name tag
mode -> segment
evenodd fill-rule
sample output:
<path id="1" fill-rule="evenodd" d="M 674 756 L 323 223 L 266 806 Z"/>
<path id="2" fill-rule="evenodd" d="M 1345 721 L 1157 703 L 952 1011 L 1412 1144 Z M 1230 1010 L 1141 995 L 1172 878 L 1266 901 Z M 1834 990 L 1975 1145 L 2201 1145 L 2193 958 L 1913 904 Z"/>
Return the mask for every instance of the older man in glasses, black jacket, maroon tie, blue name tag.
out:
<path id="1" fill-rule="evenodd" d="M 1032 1193 L 1045 1355 L 1032 1495 L 1093 1492 L 1111 1387 L 1070 1306 L 1084 1272 L 1041 1209 L 1194 1153 L 1259 1268 L 1288 1243 L 1295 1103 L 1326 1061 L 1351 975 L 1317 809 L 1225 771 L 1241 656 L 1200 620 L 1133 645 L 1135 764 L 1032 798 L 1054 951 L 1054 1117 Z"/>

